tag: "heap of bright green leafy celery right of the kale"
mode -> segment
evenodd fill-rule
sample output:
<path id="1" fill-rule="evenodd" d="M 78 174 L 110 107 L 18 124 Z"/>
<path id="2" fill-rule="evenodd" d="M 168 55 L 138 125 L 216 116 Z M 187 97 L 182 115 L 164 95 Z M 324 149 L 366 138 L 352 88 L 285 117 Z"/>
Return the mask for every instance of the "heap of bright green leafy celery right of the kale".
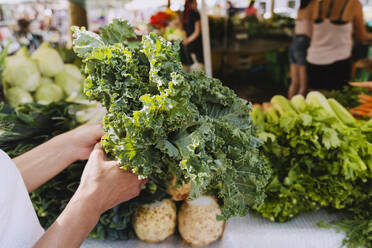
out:
<path id="1" fill-rule="evenodd" d="M 272 168 L 262 216 L 283 222 L 305 211 L 347 210 L 337 226 L 349 247 L 371 247 L 372 121 L 358 121 L 319 92 L 255 106 L 252 119 Z M 366 229 L 364 229 L 366 228 Z"/>

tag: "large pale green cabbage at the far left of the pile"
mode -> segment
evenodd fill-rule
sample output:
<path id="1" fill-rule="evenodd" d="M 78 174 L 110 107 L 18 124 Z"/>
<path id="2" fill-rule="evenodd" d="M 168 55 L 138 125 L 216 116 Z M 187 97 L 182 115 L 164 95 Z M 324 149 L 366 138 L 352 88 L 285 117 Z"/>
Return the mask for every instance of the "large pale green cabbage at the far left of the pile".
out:
<path id="1" fill-rule="evenodd" d="M 35 91 L 39 86 L 40 73 L 36 63 L 23 53 L 6 58 L 3 80 L 10 87 Z"/>

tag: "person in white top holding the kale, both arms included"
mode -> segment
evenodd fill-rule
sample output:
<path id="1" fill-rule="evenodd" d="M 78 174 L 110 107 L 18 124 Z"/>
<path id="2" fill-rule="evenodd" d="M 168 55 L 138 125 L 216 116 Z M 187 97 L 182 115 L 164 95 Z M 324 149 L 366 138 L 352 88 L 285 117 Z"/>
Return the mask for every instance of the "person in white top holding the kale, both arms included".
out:
<path id="1" fill-rule="evenodd" d="M 13 160 L 0 150 L 0 248 L 80 247 L 103 212 L 139 194 L 145 181 L 107 160 L 102 135 L 101 125 L 84 125 Z M 28 193 L 86 159 L 77 191 L 44 232 Z"/>

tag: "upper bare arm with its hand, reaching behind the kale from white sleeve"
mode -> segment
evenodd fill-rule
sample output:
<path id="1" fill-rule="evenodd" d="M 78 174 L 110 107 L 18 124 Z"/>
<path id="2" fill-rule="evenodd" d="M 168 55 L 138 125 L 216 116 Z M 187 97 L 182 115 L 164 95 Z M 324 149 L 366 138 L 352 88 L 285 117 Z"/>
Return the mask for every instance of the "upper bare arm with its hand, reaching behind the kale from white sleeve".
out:
<path id="1" fill-rule="evenodd" d="M 77 160 L 88 159 L 103 135 L 101 125 L 84 125 L 58 135 L 13 159 L 28 192 L 44 184 Z"/>

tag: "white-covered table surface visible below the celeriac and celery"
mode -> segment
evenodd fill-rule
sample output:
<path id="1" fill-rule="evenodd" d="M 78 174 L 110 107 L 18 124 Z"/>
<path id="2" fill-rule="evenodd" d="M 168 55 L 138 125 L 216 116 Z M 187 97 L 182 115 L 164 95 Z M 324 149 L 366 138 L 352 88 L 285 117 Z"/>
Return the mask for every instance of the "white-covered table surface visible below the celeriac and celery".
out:
<path id="1" fill-rule="evenodd" d="M 320 220 L 332 221 L 339 215 L 325 211 L 302 214 L 287 223 L 273 223 L 262 217 L 247 216 L 228 221 L 221 240 L 208 248 L 340 248 L 345 237 L 335 230 L 317 226 Z M 190 247 L 173 235 L 159 244 L 139 240 L 98 241 L 87 239 L 82 248 L 173 248 Z"/>

